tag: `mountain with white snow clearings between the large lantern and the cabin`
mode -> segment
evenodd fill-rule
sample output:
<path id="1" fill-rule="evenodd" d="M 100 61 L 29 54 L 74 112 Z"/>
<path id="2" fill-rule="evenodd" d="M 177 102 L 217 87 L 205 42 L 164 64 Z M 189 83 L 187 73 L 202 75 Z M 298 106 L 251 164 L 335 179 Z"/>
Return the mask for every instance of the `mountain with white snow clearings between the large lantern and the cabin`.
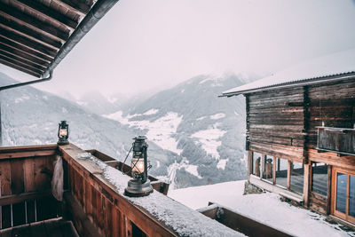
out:
<path id="1" fill-rule="evenodd" d="M 158 164 L 177 188 L 244 179 L 245 101 L 217 96 L 253 79 L 199 75 L 105 116 L 177 154 Z"/>

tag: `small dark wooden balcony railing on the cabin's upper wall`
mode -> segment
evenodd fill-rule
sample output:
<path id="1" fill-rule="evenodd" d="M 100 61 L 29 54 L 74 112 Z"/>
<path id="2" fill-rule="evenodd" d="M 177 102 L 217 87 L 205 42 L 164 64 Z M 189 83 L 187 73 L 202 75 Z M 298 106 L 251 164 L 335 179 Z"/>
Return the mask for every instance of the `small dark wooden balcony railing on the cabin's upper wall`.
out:
<path id="1" fill-rule="evenodd" d="M 355 129 L 318 128 L 317 149 L 343 155 L 355 155 Z"/>

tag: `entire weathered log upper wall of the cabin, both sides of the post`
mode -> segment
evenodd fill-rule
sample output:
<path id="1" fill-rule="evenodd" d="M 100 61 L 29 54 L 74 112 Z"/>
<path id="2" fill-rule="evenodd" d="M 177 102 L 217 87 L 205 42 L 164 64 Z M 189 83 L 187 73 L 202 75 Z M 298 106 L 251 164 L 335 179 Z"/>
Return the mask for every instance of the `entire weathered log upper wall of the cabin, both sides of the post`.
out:
<path id="1" fill-rule="evenodd" d="M 353 80 L 250 93 L 247 143 L 251 150 L 302 160 L 317 146 L 317 126 L 353 128 Z M 304 149 L 305 148 L 305 149 Z"/>

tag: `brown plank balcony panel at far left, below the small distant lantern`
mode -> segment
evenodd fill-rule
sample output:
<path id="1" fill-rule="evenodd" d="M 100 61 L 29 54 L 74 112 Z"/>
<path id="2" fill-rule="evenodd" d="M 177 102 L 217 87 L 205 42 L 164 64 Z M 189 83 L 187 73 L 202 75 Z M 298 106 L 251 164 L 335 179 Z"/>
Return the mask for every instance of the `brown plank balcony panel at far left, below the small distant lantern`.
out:
<path id="1" fill-rule="evenodd" d="M 57 146 L 0 148 L 1 229 L 57 217 L 51 176 Z"/>

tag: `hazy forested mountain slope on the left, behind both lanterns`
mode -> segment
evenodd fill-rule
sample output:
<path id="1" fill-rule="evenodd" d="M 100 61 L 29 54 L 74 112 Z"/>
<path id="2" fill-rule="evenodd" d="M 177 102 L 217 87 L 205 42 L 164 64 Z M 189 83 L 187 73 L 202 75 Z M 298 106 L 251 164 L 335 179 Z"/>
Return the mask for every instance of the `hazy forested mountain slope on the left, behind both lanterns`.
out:
<path id="1" fill-rule="evenodd" d="M 12 83 L 17 82 L 0 73 L 0 85 Z M 83 149 L 98 149 L 122 161 L 130 150 L 132 138 L 139 135 L 127 130 L 119 122 L 31 86 L 1 91 L 0 98 L 3 146 L 56 143 L 58 123 L 67 120 L 70 142 Z M 175 157 L 151 141 L 148 144 L 154 167 L 168 160 L 168 157 Z"/>

